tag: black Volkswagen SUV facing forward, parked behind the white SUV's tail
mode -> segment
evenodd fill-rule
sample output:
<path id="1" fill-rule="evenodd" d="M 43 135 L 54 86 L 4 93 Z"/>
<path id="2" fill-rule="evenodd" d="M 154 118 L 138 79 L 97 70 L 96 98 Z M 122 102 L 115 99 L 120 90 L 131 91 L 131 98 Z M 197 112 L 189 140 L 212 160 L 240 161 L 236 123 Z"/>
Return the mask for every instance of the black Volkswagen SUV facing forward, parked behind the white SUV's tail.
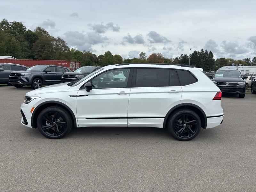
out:
<path id="1" fill-rule="evenodd" d="M 240 98 L 245 96 L 245 81 L 241 72 L 238 70 L 217 70 L 212 78 L 221 92 L 236 93 Z"/>

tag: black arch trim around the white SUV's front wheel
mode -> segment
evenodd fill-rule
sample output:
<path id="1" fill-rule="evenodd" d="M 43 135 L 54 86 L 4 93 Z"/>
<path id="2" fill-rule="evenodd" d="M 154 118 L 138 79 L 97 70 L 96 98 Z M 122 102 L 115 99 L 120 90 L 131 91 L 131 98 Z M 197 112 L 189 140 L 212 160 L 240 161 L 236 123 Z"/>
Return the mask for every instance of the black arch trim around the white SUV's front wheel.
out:
<path id="1" fill-rule="evenodd" d="M 70 115 L 72 116 L 72 119 L 73 119 L 73 124 L 74 124 L 74 127 L 76 128 L 76 116 L 74 115 L 73 111 L 64 103 L 61 103 L 60 101 L 45 101 L 41 104 L 39 104 L 33 111 L 32 113 L 32 116 L 31 116 L 31 127 L 32 128 L 37 128 L 37 125 L 36 125 L 36 120 L 37 120 L 37 117 L 39 115 L 39 113 L 44 109 L 44 108 L 47 108 L 47 107 L 50 107 L 50 106 L 60 106 L 60 107 L 63 107 L 65 109 L 68 110 L 68 112 L 70 113 Z"/>

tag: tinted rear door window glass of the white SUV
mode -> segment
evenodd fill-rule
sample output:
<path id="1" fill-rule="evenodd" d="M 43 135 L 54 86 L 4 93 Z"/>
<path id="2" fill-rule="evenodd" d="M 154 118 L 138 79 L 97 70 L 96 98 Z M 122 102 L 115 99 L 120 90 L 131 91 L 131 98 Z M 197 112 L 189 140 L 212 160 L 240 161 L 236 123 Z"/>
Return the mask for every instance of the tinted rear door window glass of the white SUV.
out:
<path id="1" fill-rule="evenodd" d="M 169 69 L 138 68 L 135 87 L 169 86 Z"/>

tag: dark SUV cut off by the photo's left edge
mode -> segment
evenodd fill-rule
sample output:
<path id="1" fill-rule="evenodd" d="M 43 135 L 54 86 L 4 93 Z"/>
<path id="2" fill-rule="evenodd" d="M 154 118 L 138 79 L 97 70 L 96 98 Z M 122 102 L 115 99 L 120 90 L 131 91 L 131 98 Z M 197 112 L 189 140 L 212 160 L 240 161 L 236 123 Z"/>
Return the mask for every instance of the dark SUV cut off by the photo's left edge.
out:
<path id="1" fill-rule="evenodd" d="M 0 84 L 9 84 L 9 75 L 12 71 L 24 71 L 28 67 L 13 63 L 0 64 Z"/>

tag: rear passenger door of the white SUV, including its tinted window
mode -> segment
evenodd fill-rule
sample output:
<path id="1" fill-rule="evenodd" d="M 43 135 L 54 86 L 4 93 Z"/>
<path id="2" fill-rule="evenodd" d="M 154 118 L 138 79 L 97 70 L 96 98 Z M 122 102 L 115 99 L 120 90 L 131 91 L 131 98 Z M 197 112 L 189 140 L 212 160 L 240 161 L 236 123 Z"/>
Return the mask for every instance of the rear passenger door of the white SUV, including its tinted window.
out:
<path id="1" fill-rule="evenodd" d="M 128 105 L 128 126 L 163 127 L 164 117 L 180 103 L 181 95 L 175 69 L 135 69 Z"/>

